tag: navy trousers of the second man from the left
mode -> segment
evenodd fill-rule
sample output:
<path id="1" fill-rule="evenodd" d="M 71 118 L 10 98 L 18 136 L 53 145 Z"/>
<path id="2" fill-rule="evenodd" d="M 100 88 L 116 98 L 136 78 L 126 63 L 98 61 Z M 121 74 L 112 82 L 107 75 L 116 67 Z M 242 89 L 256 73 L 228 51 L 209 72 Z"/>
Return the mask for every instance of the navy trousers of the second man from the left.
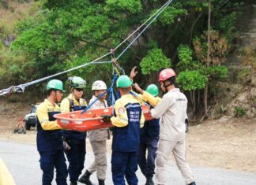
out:
<path id="1" fill-rule="evenodd" d="M 67 139 L 67 142 L 71 147 L 70 150 L 65 150 L 70 163 L 68 168 L 70 181 L 77 181 L 85 163 L 85 139 Z"/>

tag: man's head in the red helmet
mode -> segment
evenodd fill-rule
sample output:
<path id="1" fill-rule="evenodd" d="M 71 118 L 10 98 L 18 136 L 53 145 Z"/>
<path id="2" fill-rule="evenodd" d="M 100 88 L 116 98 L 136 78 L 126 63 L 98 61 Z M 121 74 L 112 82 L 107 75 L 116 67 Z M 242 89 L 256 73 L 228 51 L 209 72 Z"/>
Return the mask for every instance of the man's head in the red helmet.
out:
<path id="1" fill-rule="evenodd" d="M 165 68 L 160 72 L 159 82 L 161 84 L 161 89 L 164 92 L 169 91 L 172 87 L 174 87 L 176 80 L 175 71 L 172 68 Z"/>

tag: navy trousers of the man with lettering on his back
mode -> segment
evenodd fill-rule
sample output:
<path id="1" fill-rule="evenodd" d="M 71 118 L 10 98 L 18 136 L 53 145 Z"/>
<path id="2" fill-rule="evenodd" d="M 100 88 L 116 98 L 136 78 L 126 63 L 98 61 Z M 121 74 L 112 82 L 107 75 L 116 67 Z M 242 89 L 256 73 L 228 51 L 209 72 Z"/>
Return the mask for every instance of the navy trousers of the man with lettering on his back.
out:
<path id="1" fill-rule="evenodd" d="M 137 152 L 113 151 L 111 157 L 111 171 L 114 185 L 137 185 Z"/>

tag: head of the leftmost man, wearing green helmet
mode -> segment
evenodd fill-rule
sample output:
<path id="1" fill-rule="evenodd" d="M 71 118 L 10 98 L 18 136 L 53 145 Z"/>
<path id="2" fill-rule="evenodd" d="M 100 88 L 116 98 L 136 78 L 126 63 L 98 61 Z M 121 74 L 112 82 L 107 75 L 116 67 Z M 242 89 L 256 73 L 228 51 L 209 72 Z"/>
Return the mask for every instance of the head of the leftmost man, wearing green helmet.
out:
<path id="1" fill-rule="evenodd" d="M 55 102 L 60 102 L 63 97 L 63 83 L 60 80 L 50 80 L 47 83 L 47 96 Z"/>

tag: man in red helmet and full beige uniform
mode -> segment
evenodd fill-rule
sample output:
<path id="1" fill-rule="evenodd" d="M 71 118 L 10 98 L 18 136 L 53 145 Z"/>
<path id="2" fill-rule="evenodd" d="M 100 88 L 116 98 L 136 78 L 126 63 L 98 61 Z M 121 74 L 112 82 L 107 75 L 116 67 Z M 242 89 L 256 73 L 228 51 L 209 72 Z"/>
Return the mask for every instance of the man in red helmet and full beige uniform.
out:
<path id="1" fill-rule="evenodd" d="M 195 185 L 193 173 L 186 161 L 185 124 L 187 99 L 185 94 L 175 88 L 176 74 L 171 68 L 160 72 L 159 82 L 164 91 L 161 102 L 151 109 L 154 118 L 162 117 L 160 140 L 156 152 L 156 183 L 168 183 L 168 157 L 171 152 L 186 184 Z"/>

